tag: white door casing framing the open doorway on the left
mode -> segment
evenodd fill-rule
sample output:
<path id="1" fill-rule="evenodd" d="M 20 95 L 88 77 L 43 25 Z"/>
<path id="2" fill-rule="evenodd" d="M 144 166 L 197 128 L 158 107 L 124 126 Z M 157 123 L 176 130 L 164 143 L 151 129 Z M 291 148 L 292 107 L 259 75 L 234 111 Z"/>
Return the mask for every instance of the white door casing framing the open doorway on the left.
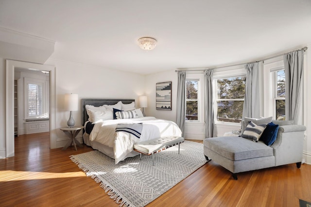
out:
<path id="1" fill-rule="evenodd" d="M 50 73 L 50 148 L 56 148 L 55 132 L 55 68 L 52 65 L 33 64 L 20 61 L 6 61 L 6 157 L 13 157 L 14 151 L 14 73 L 17 68 Z"/>

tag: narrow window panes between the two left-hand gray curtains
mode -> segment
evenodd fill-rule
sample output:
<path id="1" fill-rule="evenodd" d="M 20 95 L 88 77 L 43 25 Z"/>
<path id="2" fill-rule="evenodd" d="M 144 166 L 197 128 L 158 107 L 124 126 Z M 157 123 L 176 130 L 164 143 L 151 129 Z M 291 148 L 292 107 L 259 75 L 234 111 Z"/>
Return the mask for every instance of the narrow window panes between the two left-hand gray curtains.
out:
<path id="1" fill-rule="evenodd" d="M 199 80 L 186 80 L 186 120 L 198 120 Z"/>

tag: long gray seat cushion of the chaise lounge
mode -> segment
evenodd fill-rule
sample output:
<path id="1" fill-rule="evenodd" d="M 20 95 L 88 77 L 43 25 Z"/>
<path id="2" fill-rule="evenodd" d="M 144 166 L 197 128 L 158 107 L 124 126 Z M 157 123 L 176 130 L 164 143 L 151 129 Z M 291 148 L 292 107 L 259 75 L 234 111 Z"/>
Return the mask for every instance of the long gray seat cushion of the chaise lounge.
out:
<path id="1" fill-rule="evenodd" d="M 204 140 L 204 145 L 219 155 L 231 160 L 273 156 L 273 148 L 242 137 L 213 137 Z"/>

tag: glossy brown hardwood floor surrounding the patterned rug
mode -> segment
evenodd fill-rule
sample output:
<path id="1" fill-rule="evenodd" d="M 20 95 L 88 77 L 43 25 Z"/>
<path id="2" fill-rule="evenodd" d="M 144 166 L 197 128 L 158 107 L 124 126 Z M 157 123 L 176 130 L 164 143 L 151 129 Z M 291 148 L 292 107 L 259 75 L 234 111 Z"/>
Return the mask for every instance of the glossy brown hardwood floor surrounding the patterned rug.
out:
<path id="1" fill-rule="evenodd" d="M 69 159 L 90 147 L 62 151 L 49 146 L 48 133 L 16 138 L 16 156 L 0 159 L 1 207 L 119 207 Z M 311 165 L 284 165 L 238 178 L 211 160 L 147 207 L 299 207 L 299 199 L 311 202 Z"/>

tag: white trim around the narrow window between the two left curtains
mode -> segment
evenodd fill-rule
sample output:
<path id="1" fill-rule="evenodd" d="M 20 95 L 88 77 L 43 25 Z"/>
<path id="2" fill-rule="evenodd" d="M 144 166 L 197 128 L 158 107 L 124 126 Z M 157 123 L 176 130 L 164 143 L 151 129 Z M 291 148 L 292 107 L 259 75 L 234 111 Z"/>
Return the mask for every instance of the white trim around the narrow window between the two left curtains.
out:
<path id="1" fill-rule="evenodd" d="M 198 99 L 197 99 L 198 100 L 198 120 L 185 120 L 185 122 L 187 124 L 204 123 L 204 75 L 203 74 L 186 74 L 186 82 L 187 80 L 199 80 Z"/>

